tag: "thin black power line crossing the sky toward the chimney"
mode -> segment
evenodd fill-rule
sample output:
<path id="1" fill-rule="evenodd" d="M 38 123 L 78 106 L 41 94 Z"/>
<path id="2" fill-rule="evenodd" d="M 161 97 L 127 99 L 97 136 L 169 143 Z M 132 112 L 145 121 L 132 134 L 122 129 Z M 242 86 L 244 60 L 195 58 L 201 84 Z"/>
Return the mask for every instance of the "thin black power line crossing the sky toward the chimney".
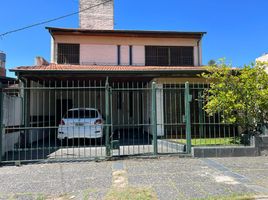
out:
<path id="1" fill-rule="evenodd" d="M 57 21 L 57 20 L 60 20 L 60 19 L 63 19 L 63 18 L 67 18 L 67 17 L 73 16 L 73 15 L 79 14 L 79 13 L 87 11 L 87 10 L 89 10 L 91 8 L 95 8 L 95 7 L 98 7 L 100 5 L 106 4 L 106 3 L 110 2 L 110 1 L 112 1 L 112 0 L 107 0 L 105 2 L 96 4 L 94 6 L 90 6 L 90 7 L 84 8 L 82 10 L 79 10 L 77 12 L 73 12 L 73 13 L 63 15 L 63 16 L 60 16 L 60 17 L 57 17 L 57 18 L 49 19 L 49 20 L 46 20 L 46 21 L 43 21 L 43 22 L 39 22 L 39 23 L 36 23 L 36 24 L 32 24 L 32 25 L 29 25 L 29 26 L 25 26 L 25 27 L 22 27 L 22 28 L 19 28 L 19 29 L 15 29 L 15 30 L 11 30 L 11 31 L 2 33 L 2 34 L 0 34 L 0 38 L 2 38 L 3 36 L 6 36 L 8 34 L 11 34 L 11 33 L 19 32 L 19 31 L 29 29 L 29 28 L 32 28 L 32 27 L 35 27 L 35 26 L 40 26 L 40 25 L 43 25 L 43 24 L 47 24 L 47 23 L 50 23 L 50 22 L 53 22 L 53 21 Z"/>

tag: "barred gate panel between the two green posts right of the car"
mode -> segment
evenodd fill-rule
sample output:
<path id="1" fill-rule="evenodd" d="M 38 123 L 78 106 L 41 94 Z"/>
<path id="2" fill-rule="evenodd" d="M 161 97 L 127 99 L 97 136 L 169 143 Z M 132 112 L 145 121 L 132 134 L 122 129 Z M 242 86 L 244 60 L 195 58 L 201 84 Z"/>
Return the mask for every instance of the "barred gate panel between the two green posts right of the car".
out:
<path id="1" fill-rule="evenodd" d="M 121 83 L 110 88 L 112 155 L 152 154 L 149 88 L 148 82 Z"/>

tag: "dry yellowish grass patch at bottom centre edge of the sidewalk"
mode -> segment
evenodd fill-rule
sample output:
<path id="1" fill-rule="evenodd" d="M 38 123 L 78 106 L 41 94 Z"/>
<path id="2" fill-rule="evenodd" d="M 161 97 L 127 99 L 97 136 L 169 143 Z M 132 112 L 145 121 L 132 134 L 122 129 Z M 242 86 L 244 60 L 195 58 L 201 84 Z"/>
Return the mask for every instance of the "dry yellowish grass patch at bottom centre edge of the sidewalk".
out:
<path id="1" fill-rule="evenodd" d="M 157 200 L 157 195 L 151 188 L 112 188 L 105 200 Z"/>

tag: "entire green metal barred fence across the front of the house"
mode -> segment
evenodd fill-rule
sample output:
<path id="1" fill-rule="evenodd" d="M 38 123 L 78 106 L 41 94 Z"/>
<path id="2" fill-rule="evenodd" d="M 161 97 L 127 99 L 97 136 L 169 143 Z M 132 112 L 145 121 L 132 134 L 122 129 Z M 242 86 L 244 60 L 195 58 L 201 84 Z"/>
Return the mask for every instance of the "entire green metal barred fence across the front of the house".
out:
<path id="1" fill-rule="evenodd" d="M 192 142 L 235 138 L 236 126 L 205 115 L 207 86 L 197 86 L 108 79 L 9 82 L 0 95 L 0 161 L 190 153 Z"/>

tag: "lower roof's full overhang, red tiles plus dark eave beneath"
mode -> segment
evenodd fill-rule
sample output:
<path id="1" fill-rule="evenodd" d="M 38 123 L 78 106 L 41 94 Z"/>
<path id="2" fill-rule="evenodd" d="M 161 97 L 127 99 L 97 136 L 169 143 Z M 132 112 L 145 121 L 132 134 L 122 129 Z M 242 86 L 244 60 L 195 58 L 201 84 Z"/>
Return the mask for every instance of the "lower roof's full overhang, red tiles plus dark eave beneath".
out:
<path id="1" fill-rule="evenodd" d="M 97 66 L 56 65 L 22 66 L 11 69 L 19 77 L 196 77 L 205 67 L 194 66 Z"/>

